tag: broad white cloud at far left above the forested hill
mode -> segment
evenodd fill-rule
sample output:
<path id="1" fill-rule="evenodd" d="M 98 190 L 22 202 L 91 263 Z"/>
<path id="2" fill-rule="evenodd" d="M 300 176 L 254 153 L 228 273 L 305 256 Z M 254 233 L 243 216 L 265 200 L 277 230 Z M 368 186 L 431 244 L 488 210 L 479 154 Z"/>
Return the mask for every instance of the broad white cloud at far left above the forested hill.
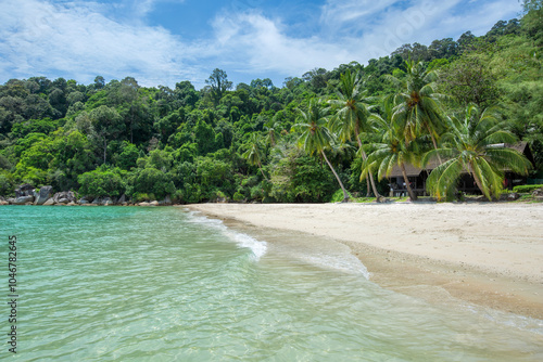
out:
<path id="1" fill-rule="evenodd" d="M 136 76 L 142 85 L 193 80 L 198 69 L 185 64 L 192 54 L 161 27 L 115 22 L 103 5 L 77 7 L 45 1 L 10 1 L 0 13 L 0 77 L 58 75 L 83 82 L 94 76 Z"/>

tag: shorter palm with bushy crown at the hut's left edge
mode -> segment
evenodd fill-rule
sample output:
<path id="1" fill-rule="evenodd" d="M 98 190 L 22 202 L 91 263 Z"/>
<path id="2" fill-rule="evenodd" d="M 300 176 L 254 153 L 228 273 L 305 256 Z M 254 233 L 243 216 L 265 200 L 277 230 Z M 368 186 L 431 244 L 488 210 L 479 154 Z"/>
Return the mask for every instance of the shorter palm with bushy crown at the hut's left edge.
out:
<path id="1" fill-rule="evenodd" d="M 417 199 L 409 184 L 409 179 L 405 170 L 405 165 L 411 164 L 418 166 L 420 164 L 421 145 L 419 142 L 406 142 L 403 128 L 392 121 L 392 106 L 384 101 L 384 118 L 374 115 L 372 118 L 377 121 L 379 129 L 382 130 L 381 142 L 372 143 L 371 150 L 367 159 L 362 164 L 361 180 L 377 168 L 377 177 L 382 180 L 384 177 L 390 177 L 394 166 L 399 166 L 402 170 L 405 186 L 409 198 Z"/>

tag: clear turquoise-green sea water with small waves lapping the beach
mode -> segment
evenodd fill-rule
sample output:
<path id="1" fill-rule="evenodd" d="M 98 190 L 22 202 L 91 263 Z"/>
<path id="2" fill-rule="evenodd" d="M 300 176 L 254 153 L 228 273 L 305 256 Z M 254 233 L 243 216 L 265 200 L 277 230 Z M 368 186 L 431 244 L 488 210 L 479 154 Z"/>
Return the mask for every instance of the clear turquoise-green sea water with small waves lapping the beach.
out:
<path id="1" fill-rule="evenodd" d="M 543 361 L 543 321 L 430 305 L 340 244 L 184 208 L 2 206 L 0 258 L 2 360 Z"/>

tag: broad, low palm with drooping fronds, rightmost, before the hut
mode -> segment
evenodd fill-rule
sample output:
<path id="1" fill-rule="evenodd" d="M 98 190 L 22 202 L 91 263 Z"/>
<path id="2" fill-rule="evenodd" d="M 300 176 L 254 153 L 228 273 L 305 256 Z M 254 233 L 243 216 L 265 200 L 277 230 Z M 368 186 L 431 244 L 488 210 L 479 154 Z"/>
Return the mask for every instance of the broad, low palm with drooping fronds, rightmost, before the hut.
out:
<path id="1" fill-rule="evenodd" d="M 463 172 L 469 172 L 479 190 L 491 201 L 502 191 L 504 169 L 527 174 L 530 161 L 519 152 L 506 147 L 516 141 L 513 133 L 504 130 L 503 121 L 496 119 L 494 109 L 480 111 L 470 105 L 462 118 L 451 117 L 450 131 L 443 134 L 444 146 L 439 152 L 447 158 L 437 167 L 427 180 L 429 192 L 442 198 L 455 190 Z M 438 150 L 427 153 L 427 164 Z"/>

